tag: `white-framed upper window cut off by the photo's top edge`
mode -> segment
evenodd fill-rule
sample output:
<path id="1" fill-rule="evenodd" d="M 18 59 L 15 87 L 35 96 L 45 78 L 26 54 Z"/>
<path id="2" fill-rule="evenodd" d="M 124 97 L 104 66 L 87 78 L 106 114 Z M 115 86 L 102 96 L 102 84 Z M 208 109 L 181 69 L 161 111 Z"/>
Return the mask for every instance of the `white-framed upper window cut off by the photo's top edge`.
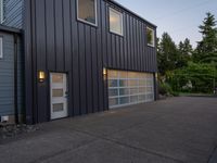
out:
<path id="1" fill-rule="evenodd" d="M 97 26 L 97 0 L 77 0 L 77 17 L 79 21 Z"/>

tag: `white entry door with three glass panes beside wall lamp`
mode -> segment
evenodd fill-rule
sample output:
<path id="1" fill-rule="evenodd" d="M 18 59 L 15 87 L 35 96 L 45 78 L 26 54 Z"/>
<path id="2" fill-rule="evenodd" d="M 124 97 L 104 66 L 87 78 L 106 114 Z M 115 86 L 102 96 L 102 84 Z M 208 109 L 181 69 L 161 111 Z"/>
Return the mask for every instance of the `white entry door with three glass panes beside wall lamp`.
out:
<path id="1" fill-rule="evenodd" d="M 67 77 L 63 73 L 50 74 L 51 120 L 66 117 Z"/>

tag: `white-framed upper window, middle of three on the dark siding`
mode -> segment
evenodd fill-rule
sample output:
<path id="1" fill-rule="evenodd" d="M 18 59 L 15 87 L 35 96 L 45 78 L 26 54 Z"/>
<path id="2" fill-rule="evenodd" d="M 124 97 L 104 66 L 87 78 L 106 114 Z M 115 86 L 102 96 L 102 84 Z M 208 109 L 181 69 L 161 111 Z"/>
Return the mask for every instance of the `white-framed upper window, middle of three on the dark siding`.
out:
<path id="1" fill-rule="evenodd" d="M 123 13 L 110 8 L 110 32 L 123 36 Z"/>

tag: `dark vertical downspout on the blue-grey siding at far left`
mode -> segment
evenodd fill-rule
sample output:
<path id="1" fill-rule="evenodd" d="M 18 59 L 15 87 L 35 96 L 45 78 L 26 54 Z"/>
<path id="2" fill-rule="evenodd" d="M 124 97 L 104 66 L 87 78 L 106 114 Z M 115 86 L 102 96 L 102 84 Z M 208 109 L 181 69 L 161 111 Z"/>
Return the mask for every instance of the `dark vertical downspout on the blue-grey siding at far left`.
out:
<path id="1" fill-rule="evenodd" d="M 14 117 L 16 124 L 18 124 L 17 55 L 17 34 L 14 34 Z"/>

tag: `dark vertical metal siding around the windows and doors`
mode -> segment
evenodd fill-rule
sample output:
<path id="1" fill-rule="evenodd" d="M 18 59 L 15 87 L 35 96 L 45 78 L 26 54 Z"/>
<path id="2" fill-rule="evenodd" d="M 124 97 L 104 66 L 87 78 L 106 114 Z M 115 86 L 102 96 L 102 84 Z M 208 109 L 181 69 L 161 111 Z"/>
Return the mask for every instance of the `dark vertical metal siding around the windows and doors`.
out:
<path id="1" fill-rule="evenodd" d="M 27 122 L 50 120 L 49 78 L 37 71 L 68 74 L 69 116 L 107 110 L 103 67 L 156 72 L 156 49 L 146 46 L 148 23 L 124 9 L 124 37 L 110 33 L 107 1 L 98 0 L 98 27 L 77 21 L 76 0 L 26 1 Z M 154 27 L 153 27 L 154 28 Z"/>

